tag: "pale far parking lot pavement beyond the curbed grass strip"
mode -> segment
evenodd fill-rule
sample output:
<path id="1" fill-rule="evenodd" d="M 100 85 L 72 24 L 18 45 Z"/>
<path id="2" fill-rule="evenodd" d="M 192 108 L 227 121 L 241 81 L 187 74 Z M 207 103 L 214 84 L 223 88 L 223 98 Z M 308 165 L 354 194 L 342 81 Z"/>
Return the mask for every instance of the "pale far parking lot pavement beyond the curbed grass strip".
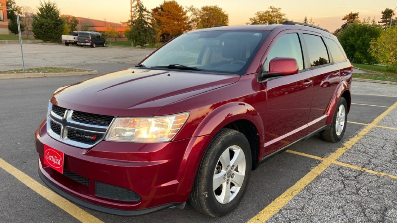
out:
<path id="1" fill-rule="evenodd" d="M 98 70 L 99 74 L 126 69 L 153 49 L 131 47 L 78 47 L 63 44 L 24 44 L 25 66 L 62 66 Z M 0 71 L 22 69 L 19 44 L 0 44 Z"/>

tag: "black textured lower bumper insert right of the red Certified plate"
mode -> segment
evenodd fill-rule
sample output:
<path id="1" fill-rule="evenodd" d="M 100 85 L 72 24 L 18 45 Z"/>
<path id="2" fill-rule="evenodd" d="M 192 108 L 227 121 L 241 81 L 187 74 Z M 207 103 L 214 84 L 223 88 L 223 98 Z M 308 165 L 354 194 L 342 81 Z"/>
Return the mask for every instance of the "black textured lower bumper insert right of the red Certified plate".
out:
<path id="1" fill-rule="evenodd" d="M 95 182 L 95 196 L 112 200 L 138 202 L 141 197 L 127 188 Z"/>

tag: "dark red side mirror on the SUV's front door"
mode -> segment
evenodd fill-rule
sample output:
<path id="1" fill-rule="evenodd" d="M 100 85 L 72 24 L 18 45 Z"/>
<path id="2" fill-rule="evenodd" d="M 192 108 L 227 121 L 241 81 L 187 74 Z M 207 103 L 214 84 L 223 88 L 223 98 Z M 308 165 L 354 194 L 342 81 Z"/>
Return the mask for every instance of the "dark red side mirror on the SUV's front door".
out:
<path id="1" fill-rule="evenodd" d="M 276 57 L 269 62 L 269 71 L 262 73 L 263 78 L 287 76 L 298 73 L 297 60 L 287 57 Z"/>

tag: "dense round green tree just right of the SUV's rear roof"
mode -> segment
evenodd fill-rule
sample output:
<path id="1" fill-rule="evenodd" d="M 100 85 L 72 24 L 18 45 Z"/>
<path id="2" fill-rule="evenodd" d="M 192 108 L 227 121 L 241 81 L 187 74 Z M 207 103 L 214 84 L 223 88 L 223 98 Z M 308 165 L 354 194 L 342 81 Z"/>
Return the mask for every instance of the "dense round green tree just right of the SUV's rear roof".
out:
<path id="1" fill-rule="evenodd" d="M 351 62 L 374 64 L 378 60 L 368 52 L 368 49 L 370 42 L 377 39 L 381 33 L 380 25 L 364 19 L 350 23 L 337 37 Z"/>

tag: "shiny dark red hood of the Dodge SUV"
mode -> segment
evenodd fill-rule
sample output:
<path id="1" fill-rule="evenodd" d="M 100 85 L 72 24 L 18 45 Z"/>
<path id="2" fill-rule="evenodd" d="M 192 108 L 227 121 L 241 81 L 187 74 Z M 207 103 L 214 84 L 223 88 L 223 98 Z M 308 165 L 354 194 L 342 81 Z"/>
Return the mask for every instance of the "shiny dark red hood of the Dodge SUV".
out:
<path id="1" fill-rule="evenodd" d="M 167 104 L 238 81 L 217 75 L 153 69 L 125 69 L 59 88 L 52 104 L 114 116 L 153 116 Z"/>

